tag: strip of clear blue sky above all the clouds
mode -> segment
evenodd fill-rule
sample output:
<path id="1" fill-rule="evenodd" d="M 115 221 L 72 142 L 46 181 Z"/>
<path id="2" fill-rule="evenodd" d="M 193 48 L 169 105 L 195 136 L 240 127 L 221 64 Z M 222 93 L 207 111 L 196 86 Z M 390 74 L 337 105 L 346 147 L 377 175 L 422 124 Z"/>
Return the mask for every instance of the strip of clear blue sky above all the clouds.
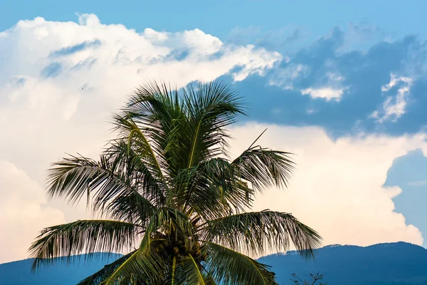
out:
<path id="1" fill-rule="evenodd" d="M 423 28 L 424 1 L 10 1 L 2 2 L 7 11 L 0 29 L 20 19 L 42 16 L 52 21 L 75 21 L 74 13 L 94 13 L 105 24 L 121 23 L 141 31 L 181 31 L 200 28 L 226 38 L 236 26 L 275 30 L 289 24 L 307 28 L 313 36 L 327 33 L 334 26 L 349 23 L 375 24 L 396 36 L 408 33 L 426 36 Z"/>

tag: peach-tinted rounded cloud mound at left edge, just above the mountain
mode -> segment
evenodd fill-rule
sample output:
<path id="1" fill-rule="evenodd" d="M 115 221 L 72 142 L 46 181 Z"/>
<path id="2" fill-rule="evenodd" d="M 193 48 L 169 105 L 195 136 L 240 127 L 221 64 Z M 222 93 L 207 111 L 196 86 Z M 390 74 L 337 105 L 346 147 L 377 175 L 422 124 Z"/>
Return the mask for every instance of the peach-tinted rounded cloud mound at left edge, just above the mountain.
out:
<path id="1" fill-rule="evenodd" d="M 25 172 L 0 160 L 0 263 L 22 259 L 43 227 L 65 222 L 62 212 L 46 207 L 43 189 Z"/>

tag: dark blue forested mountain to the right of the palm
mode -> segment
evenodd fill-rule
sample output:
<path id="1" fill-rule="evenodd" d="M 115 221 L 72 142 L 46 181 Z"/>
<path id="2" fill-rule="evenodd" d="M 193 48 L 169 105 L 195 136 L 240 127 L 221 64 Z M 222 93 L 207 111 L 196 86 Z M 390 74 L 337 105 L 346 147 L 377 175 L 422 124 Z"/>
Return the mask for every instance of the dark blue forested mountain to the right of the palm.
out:
<path id="1" fill-rule="evenodd" d="M 427 249 L 406 242 L 375 244 L 370 247 L 333 245 L 306 261 L 296 252 L 262 257 L 273 266 L 280 285 L 298 276 L 320 272 L 331 285 L 427 284 Z"/>

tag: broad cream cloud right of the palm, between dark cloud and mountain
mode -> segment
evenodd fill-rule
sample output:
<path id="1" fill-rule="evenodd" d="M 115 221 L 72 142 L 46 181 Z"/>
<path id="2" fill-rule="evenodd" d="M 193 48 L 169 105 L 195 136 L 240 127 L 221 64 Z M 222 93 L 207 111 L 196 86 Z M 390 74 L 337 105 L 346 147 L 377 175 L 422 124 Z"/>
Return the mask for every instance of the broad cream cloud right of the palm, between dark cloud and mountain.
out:
<path id="1" fill-rule="evenodd" d="M 334 141 L 321 128 L 248 123 L 233 129 L 233 153 L 243 151 L 265 128 L 259 144 L 295 153 L 297 170 L 288 190 L 260 195 L 256 210 L 291 212 L 320 232 L 324 244 L 423 244 L 421 232 L 394 212 L 391 199 L 400 194 L 399 187 L 382 185 L 395 157 L 416 147 L 427 150 L 426 135 L 356 136 Z"/>

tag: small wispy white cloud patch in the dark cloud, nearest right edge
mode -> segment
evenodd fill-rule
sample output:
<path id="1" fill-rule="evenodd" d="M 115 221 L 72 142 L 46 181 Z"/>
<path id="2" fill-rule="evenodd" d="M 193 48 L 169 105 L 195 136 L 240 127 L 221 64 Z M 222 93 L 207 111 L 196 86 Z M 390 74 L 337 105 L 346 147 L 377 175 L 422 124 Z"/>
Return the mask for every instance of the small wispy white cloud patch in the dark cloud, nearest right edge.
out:
<path id="1" fill-rule="evenodd" d="M 379 123 L 396 122 L 406 112 L 406 103 L 412 86 L 412 79 L 391 74 L 390 82 L 381 87 L 383 95 L 397 88 L 396 95 L 387 96 L 381 108 L 371 114 Z"/>

